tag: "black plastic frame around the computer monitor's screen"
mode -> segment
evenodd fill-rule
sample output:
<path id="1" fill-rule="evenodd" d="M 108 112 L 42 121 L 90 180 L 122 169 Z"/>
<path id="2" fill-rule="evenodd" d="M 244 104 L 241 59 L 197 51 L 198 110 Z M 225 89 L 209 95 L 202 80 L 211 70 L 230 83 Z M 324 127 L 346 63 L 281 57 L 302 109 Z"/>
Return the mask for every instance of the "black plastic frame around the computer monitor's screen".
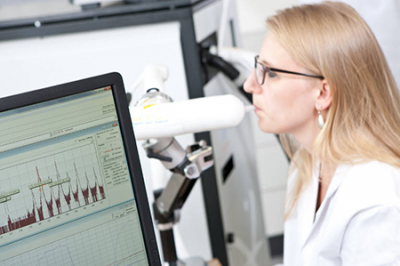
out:
<path id="1" fill-rule="evenodd" d="M 0 112 L 111 86 L 150 265 L 161 265 L 122 76 L 109 73 L 0 99 Z"/>

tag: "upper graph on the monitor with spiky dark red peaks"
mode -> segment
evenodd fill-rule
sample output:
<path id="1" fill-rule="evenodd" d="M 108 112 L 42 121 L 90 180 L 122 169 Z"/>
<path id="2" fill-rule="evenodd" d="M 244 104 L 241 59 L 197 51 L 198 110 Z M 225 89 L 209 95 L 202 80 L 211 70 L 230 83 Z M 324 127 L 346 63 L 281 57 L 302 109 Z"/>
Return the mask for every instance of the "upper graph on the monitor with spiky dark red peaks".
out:
<path id="1" fill-rule="evenodd" d="M 93 141 L 0 168 L 0 235 L 106 199 Z"/>

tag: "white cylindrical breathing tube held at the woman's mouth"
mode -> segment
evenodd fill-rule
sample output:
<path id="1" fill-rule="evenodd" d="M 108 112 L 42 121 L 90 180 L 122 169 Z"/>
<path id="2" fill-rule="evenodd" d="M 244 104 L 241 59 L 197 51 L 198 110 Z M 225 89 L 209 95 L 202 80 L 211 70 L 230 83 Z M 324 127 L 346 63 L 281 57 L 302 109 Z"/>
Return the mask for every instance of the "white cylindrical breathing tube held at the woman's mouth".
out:
<path id="1" fill-rule="evenodd" d="M 235 127 L 252 110 L 233 95 L 130 107 L 137 140 Z"/>

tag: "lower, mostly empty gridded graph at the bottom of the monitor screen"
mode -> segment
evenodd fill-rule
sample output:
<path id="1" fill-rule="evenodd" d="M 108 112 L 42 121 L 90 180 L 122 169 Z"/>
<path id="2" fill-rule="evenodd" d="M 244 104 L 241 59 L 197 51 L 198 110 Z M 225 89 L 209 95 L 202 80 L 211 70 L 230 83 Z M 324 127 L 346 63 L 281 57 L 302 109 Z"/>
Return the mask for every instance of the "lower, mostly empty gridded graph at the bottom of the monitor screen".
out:
<path id="1" fill-rule="evenodd" d="M 71 234 L 22 255 L 4 265 L 148 265 L 134 206 L 114 214 L 108 222 Z M 2 264 L 2 265 L 3 265 Z"/>

